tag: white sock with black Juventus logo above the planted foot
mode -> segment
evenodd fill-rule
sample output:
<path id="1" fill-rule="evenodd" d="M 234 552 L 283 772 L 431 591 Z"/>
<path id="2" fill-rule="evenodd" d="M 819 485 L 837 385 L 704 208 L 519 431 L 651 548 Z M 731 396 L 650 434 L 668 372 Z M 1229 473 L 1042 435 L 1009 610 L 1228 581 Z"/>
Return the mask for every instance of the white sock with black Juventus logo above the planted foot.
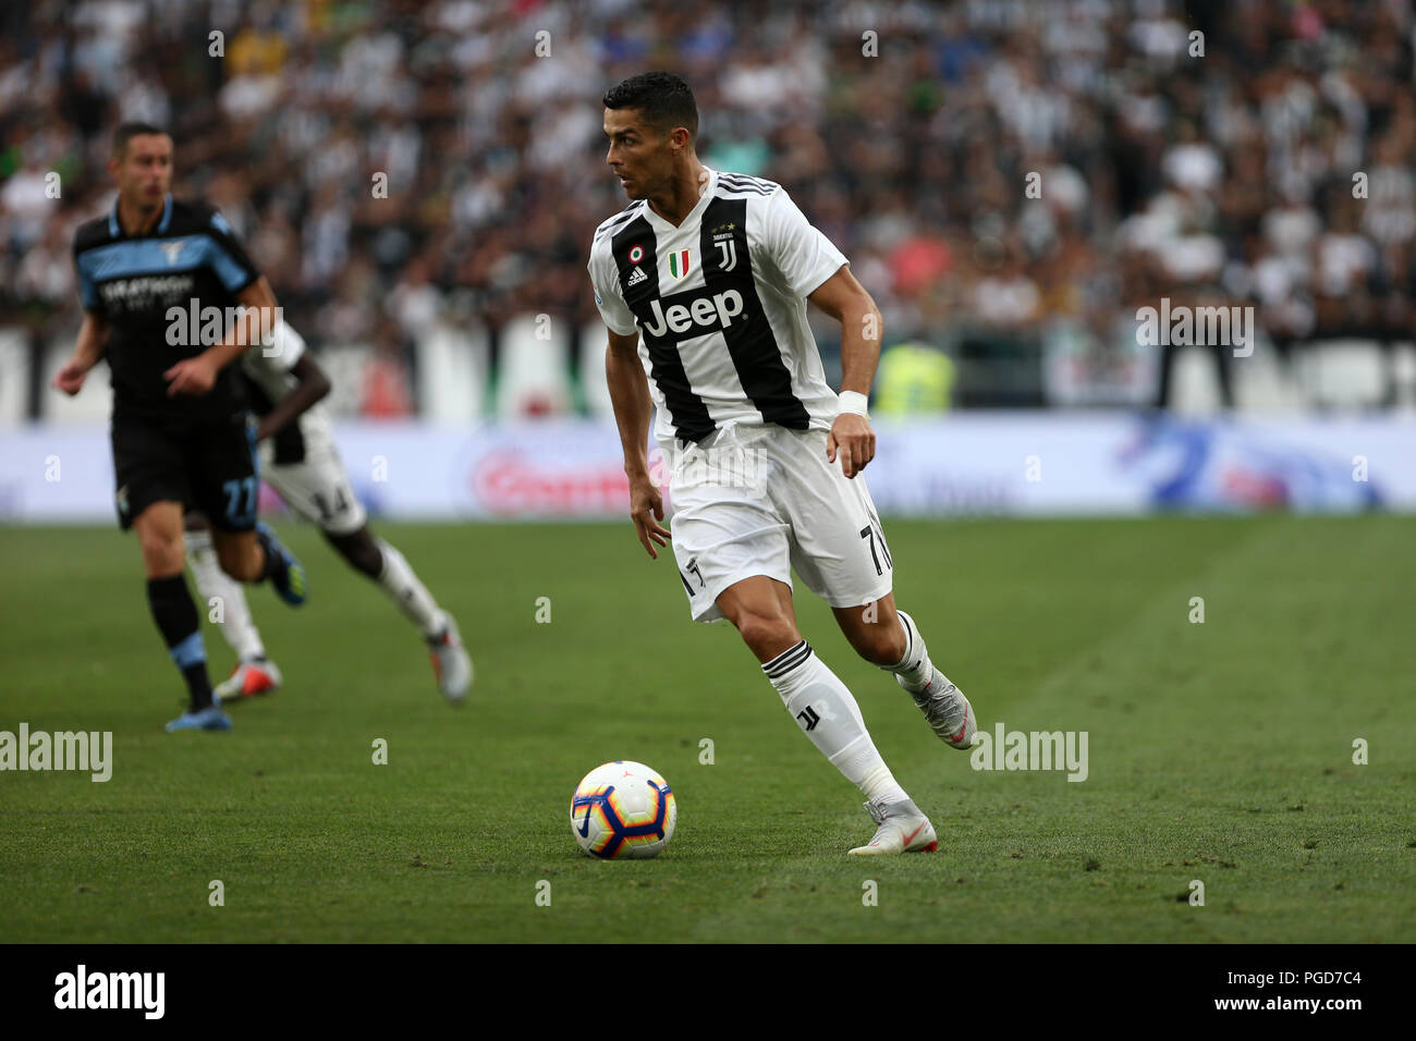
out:
<path id="1" fill-rule="evenodd" d="M 871 800 L 909 799 L 875 751 L 860 705 L 844 683 L 800 640 L 762 666 L 782 702 L 831 765 Z"/>

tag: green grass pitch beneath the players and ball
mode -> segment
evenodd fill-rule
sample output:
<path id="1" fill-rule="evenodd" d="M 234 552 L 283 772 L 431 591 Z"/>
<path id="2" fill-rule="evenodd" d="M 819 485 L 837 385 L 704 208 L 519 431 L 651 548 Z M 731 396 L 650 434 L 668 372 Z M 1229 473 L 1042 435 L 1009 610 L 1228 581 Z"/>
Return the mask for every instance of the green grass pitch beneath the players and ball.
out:
<path id="1" fill-rule="evenodd" d="M 898 602 L 983 728 L 1086 731 L 1089 776 L 971 769 L 799 584 L 939 830 L 884 861 L 844 855 L 858 793 L 627 523 L 379 528 L 460 619 L 462 710 L 377 589 L 278 527 L 313 588 L 251 593 L 286 687 L 180 735 L 135 541 L 0 534 L 0 729 L 113 732 L 108 783 L 0 773 L 0 940 L 1416 940 L 1409 518 L 888 521 Z M 617 758 L 678 797 L 657 860 L 572 840 L 576 780 Z"/>

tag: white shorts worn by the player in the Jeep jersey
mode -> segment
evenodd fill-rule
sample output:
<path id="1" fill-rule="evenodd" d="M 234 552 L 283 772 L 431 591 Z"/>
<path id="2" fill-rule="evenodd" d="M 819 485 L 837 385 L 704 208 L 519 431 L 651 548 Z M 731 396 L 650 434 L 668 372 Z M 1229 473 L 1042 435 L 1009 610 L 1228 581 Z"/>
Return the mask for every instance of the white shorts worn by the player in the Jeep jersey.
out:
<path id="1" fill-rule="evenodd" d="M 792 568 L 833 608 L 886 596 L 892 567 L 865 479 L 826 460 L 826 431 L 725 426 L 701 445 L 664 446 L 670 531 L 695 622 L 724 618 L 718 595 Z"/>

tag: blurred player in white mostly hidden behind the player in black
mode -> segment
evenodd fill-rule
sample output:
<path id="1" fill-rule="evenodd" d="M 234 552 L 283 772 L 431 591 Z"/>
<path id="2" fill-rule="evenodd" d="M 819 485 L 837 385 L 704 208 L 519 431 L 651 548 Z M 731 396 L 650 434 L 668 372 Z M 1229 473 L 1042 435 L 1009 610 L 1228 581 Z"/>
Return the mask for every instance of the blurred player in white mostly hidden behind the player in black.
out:
<path id="1" fill-rule="evenodd" d="M 280 322 L 269 348 L 241 357 L 239 377 L 259 416 L 255 436 L 261 474 L 286 506 L 320 527 L 354 571 L 378 584 L 426 642 L 443 697 L 462 704 L 473 667 L 457 623 L 438 606 L 404 554 L 370 531 L 368 516 L 334 445 L 329 415 L 319 404 L 330 392 L 329 377 L 306 351 L 304 339 Z M 217 564 L 211 533 L 200 517 L 188 518 L 187 562 L 201 598 L 221 598 L 221 635 L 236 653 L 231 676 L 217 686 L 217 700 L 232 702 L 273 691 L 280 686 L 280 670 L 266 657 L 241 586 Z"/>

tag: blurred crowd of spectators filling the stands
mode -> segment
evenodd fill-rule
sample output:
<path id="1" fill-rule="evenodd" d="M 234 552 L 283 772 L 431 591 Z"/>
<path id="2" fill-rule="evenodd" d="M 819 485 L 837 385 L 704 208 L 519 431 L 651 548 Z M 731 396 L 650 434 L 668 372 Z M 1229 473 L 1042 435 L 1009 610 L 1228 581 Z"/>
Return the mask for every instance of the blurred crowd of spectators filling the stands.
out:
<path id="1" fill-rule="evenodd" d="M 1065 327 L 1100 371 L 1163 296 L 1253 305 L 1280 347 L 1416 324 L 1412 0 L 34 0 L 0 21 L 0 324 L 76 327 L 72 232 L 110 204 L 109 133 L 143 119 L 304 336 L 368 346 L 394 388 L 371 411 L 416 406 L 401 374 L 435 323 L 596 316 L 590 237 L 624 205 L 599 98 L 651 68 L 694 88 L 709 166 L 780 181 L 845 252 L 889 340 Z"/>

